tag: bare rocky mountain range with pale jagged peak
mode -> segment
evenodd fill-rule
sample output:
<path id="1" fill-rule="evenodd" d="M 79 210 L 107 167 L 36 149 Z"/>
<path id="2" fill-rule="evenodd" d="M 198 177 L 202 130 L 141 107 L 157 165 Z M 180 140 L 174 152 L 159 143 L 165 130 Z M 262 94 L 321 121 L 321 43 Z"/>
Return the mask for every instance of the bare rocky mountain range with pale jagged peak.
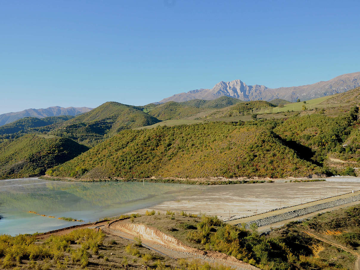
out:
<path id="1" fill-rule="evenodd" d="M 192 99 L 213 100 L 220 96 L 230 96 L 241 100 L 273 100 L 276 98 L 295 102 L 298 98 L 308 100 L 325 95 L 343 93 L 360 86 L 360 72 L 335 77 L 329 81 L 320 81 L 311 85 L 280 87 L 271 89 L 264 85 L 246 85 L 240 80 L 219 82 L 212 89 L 197 89 L 165 98 L 169 101 L 184 102 Z"/>

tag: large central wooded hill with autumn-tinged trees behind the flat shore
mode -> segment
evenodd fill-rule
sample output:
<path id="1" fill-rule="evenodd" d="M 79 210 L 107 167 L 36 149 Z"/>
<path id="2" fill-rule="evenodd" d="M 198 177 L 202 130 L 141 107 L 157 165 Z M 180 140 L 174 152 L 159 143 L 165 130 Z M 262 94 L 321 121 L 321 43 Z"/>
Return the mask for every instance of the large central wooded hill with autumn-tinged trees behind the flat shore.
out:
<path id="1" fill-rule="evenodd" d="M 329 168 L 324 161 L 329 154 L 343 153 L 342 143 L 358 132 L 358 112 L 353 107 L 338 117 L 320 112 L 125 130 L 49 174 L 84 179 L 341 174 L 343 168 Z"/>

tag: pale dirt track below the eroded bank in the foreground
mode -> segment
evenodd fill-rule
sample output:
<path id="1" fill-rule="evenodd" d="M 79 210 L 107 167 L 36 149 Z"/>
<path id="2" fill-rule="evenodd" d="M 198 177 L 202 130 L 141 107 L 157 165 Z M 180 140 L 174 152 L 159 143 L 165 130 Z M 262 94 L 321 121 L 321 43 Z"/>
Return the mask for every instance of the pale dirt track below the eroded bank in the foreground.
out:
<path id="1" fill-rule="evenodd" d="M 109 226 L 109 227 L 106 226 L 106 228 L 104 228 L 104 229 L 102 228 L 102 230 L 105 233 L 108 233 L 110 235 L 114 235 L 114 236 L 118 236 L 118 237 L 122 237 L 122 238 L 126 238 L 126 239 L 134 239 L 134 237 L 137 235 L 136 232 L 134 232 L 132 234 L 125 233 L 125 232 L 121 231 L 119 229 L 119 227 L 115 227 L 115 226 Z M 176 251 L 174 249 L 168 248 L 166 245 L 155 243 L 144 237 L 141 237 L 141 241 L 143 242 L 143 244 L 147 245 L 148 247 L 153 248 L 155 251 L 157 251 L 163 255 L 166 255 L 168 257 L 175 258 L 175 259 L 184 258 L 188 261 L 200 260 L 200 261 L 211 263 L 211 264 L 230 266 L 237 270 L 259 270 L 257 267 L 246 264 L 239 260 L 231 261 L 231 260 L 225 260 L 222 258 L 214 258 L 212 256 L 207 255 L 206 252 L 200 251 L 200 250 L 198 250 L 198 252 L 194 252 L 193 251 L 194 248 L 190 248 L 190 247 L 189 247 L 189 252 L 188 251 Z M 224 257 L 228 257 L 228 256 L 224 254 Z"/>

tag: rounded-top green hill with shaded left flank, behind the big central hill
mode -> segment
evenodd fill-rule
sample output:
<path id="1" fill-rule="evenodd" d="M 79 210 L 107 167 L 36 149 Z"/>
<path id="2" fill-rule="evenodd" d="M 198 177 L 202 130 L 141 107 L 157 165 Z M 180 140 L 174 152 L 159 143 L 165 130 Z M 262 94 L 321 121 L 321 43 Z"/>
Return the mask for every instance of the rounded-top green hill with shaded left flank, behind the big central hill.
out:
<path id="1" fill-rule="evenodd" d="M 158 122 L 160 120 L 138 107 L 106 102 L 90 112 L 64 122 L 52 133 L 93 146 L 123 129 L 149 126 Z"/>

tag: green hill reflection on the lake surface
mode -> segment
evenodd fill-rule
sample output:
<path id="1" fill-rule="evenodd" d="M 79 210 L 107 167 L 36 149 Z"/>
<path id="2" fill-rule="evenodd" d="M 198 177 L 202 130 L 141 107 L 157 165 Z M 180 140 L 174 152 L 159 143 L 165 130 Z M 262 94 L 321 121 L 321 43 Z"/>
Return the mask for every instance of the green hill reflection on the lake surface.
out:
<path id="1" fill-rule="evenodd" d="M 15 181 L 11 185 L 0 182 L 0 197 L 5 211 L 89 210 L 93 207 L 138 202 L 159 195 L 166 197 L 166 194 L 188 187 L 160 183 L 74 183 L 39 179 L 21 179 L 19 183 Z"/>

